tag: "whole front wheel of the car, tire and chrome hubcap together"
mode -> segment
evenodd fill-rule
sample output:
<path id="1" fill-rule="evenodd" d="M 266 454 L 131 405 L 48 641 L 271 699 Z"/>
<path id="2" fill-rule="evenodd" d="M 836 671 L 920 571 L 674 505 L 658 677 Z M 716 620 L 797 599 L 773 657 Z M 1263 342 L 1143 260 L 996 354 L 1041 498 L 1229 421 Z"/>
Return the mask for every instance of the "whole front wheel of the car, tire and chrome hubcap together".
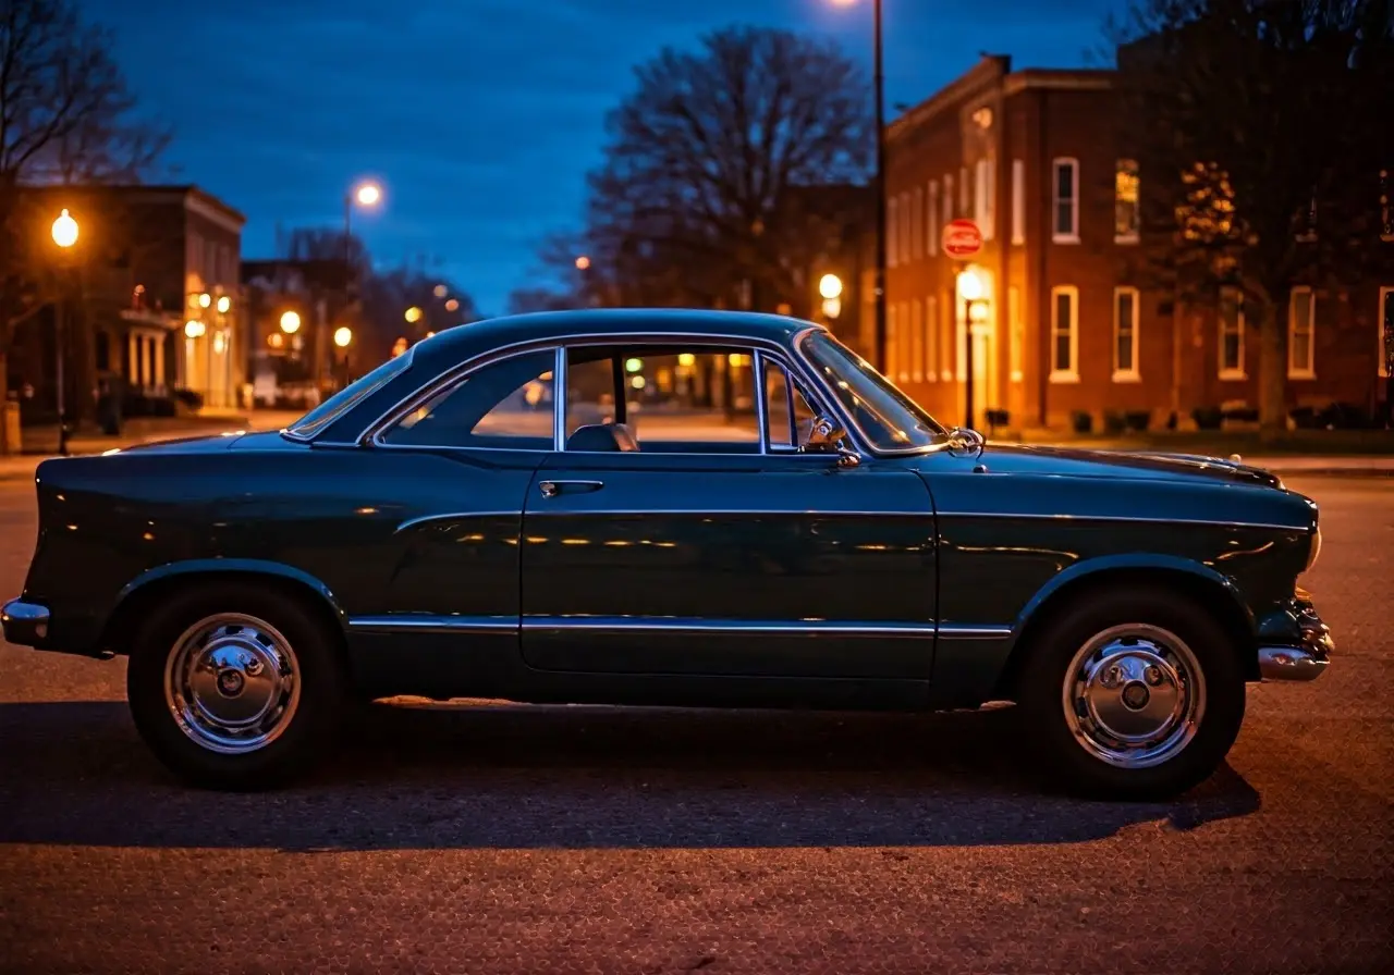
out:
<path id="1" fill-rule="evenodd" d="M 1094 596 L 1025 649 L 1018 703 L 1029 742 L 1073 791 L 1170 798 L 1209 779 L 1239 734 L 1245 676 L 1234 641 L 1174 593 Z"/>

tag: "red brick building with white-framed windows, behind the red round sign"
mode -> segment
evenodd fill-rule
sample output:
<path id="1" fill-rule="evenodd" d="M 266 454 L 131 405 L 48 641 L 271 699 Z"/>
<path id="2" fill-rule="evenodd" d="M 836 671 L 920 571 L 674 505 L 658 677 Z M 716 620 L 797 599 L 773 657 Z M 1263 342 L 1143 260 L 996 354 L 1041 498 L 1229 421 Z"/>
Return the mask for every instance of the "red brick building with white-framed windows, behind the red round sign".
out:
<path id="1" fill-rule="evenodd" d="M 1197 408 L 1257 405 L 1257 341 L 1241 309 L 1172 306 L 1139 287 L 1139 173 L 1110 125 L 1112 86 L 1105 70 L 1013 71 L 1009 57 L 984 57 L 889 125 L 884 365 L 937 416 L 966 414 L 965 270 L 983 294 L 972 306 L 977 425 L 1005 410 L 1013 428 L 1068 426 L 1076 412 L 1096 429 L 1108 412 L 1186 426 Z M 942 252 L 956 217 L 983 233 L 970 262 Z M 1383 408 L 1390 249 L 1384 280 L 1291 295 L 1289 407 Z"/>

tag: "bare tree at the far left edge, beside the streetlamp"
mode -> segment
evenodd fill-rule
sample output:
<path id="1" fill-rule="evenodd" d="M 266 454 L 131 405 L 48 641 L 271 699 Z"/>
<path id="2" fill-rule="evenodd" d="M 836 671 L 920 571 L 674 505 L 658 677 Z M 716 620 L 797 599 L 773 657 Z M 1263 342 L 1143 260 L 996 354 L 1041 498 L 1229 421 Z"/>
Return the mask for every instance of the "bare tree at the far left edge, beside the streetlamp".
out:
<path id="1" fill-rule="evenodd" d="M 167 135 L 134 114 L 110 35 L 71 0 L 0 6 L 0 401 L 17 325 L 47 299 L 50 242 L 33 233 L 24 187 L 131 182 Z"/>

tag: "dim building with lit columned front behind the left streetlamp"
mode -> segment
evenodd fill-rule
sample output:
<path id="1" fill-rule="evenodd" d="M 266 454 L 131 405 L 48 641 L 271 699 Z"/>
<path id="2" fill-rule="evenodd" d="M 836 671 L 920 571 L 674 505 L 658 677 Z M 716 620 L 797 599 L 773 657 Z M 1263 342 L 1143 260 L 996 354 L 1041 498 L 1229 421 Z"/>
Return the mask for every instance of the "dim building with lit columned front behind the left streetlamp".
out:
<path id="1" fill-rule="evenodd" d="M 241 407 L 245 327 L 238 288 L 245 217 L 192 185 L 31 187 L 35 240 L 67 208 L 78 220 L 66 308 L 70 412 L 99 383 L 123 387 L 128 414 L 187 404 Z M 10 379 L 53 403 L 53 315 L 17 329 Z M 75 407 L 75 408 L 74 408 Z"/>

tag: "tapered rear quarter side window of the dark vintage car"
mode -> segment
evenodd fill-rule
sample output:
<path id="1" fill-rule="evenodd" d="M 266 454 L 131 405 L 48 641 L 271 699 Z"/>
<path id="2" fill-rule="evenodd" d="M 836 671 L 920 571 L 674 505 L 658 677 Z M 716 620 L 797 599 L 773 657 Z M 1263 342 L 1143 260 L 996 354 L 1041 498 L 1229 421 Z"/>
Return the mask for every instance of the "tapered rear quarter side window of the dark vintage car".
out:
<path id="1" fill-rule="evenodd" d="M 470 373 L 383 433 L 417 447 L 552 448 L 552 350 L 514 355 Z"/>

